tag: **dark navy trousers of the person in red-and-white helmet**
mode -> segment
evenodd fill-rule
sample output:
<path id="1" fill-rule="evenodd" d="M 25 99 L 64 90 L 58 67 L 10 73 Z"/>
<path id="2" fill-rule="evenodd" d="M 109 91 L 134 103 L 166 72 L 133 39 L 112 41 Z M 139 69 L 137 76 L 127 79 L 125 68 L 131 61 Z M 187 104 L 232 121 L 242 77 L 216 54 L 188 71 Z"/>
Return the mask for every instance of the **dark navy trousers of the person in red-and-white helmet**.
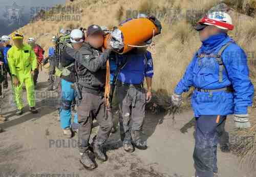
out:
<path id="1" fill-rule="evenodd" d="M 219 123 L 217 115 L 202 115 L 196 118 L 196 144 L 194 162 L 197 177 L 212 177 L 217 168 L 217 144 L 219 137 L 225 131 L 226 116 L 221 116 Z"/>

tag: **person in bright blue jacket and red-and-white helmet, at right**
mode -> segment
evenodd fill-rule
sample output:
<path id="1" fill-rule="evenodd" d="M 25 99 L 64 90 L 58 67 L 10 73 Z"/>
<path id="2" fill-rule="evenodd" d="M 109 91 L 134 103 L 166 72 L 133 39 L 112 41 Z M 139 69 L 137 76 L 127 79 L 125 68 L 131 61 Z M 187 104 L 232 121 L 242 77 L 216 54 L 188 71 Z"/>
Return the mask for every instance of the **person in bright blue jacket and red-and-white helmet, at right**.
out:
<path id="1" fill-rule="evenodd" d="M 179 106 L 181 94 L 195 87 L 191 104 L 196 117 L 193 158 L 198 177 L 218 173 L 217 143 L 227 115 L 234 114 L 237 128 L 250 127 L 247 107 L 252 105 L 254 87 L 245 52 L 227 35 L 232 29 L 225 12 L 209 13 L 199 21 L 196 30 L 202 46 L 172 96 L 173 104 Z"/>

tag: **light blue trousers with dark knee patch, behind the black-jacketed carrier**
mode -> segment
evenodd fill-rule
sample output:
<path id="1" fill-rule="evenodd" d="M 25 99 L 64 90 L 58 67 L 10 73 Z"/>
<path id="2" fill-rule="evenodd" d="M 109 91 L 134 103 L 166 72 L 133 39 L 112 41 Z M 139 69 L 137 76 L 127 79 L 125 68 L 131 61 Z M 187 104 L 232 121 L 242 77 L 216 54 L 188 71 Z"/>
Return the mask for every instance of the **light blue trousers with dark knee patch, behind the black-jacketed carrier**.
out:
<path id="1" fill-rule="evenodd" d="M 72 82 L 61 79 L 62 105 L 60 108 L 60 126 L 62 129 L 70 127 L 71 105 L 75 99 L 75 91 L 71 87 Z M 77 113 L 74 116 L 74 124 L 78 125 Z"/>

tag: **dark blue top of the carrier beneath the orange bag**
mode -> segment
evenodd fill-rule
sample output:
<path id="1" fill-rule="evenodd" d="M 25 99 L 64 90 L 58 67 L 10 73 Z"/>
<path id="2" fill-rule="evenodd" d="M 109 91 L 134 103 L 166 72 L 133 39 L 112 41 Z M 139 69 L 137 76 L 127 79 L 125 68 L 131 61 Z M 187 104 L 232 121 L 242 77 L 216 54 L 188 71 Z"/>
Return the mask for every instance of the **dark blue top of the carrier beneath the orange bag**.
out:
<path id="1" fill-rule="evenodd" d="M 126 59 L 126 64 L 117 76 L 121 82 L 128 84 L 141 84 L 145 77 L 153 77 L 154 67 L 150 52 L 139 53 L 136 49 L 129 53 L 117 54 L 117 65 Z"/>

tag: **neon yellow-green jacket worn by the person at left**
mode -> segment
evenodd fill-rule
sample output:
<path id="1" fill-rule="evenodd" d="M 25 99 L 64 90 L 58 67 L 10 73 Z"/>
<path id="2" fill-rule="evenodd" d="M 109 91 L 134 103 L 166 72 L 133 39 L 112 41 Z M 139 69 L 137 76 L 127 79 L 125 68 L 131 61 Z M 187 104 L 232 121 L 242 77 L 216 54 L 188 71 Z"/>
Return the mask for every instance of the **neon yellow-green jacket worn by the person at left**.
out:
<path id="1" fill-rule="evenodd" d="M 22 49 L 12 46 L 8 51 L 8 64 L 12 75 L 22 81 L 31 77 L 31 71 L 37 68 L 35 52 L 29 45 L 24 44 Z"/>

